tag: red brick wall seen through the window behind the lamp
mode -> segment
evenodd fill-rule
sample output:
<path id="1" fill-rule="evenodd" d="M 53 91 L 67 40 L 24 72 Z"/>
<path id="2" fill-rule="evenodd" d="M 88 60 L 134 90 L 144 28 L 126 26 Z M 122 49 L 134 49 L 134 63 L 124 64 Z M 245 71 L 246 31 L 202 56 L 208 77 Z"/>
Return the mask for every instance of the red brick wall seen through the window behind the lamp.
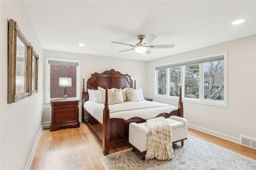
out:
<path id="1" fill-rule="evenodd" d="M 64 87 L 59 87 L 59 77 L 72 78 L 72 87 L 67 87 L 68 97 L 76 97 L 76 66 L 50 64 L 50 98 L 64 97 Z"/>

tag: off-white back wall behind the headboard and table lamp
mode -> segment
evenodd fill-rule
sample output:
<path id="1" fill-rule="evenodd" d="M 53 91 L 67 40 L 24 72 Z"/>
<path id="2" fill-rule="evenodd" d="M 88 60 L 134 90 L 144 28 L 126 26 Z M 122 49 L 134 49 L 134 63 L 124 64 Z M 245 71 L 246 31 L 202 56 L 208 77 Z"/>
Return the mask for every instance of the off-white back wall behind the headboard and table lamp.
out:
<path id="1" fill-rule="evenodd" d="M 81 61 L 81 92 L 82 92 L 82 79 L 86 81 L 91 77 L 92 73 L 98 72 L 102 73 L 106 70 L 114 69 L 122 74 L 128 74 L 131 79 L 136 80 L 136 87 L 142 87 L 144 92 L 144 97 L 147 97 L 147 63 L 146 61 L 137 61 L 129 59 L 119 59 L 113 57 L 104 57 L 97 55 L 86 55 L 80 53 L 70 53 L 63 51 L 52 51 L 43 50 L 44 55 L 44 65 L 43 65 L 43 82 L 45 82 L 45 57 L 53 58 L 64 58 L 64 59 L 77 59 Z M 43 83 L 43 93 L 45 92 L 45 83 Z M 44 97 L 45 99 L 45 97 Z M 50 104 L 45 104 L 43 100 L 43 122 L 44 125 L 49 125 L 51 121 L 51 106 Z M 81 115 L 81 103 L 79 105 L 79 118 Z"/>

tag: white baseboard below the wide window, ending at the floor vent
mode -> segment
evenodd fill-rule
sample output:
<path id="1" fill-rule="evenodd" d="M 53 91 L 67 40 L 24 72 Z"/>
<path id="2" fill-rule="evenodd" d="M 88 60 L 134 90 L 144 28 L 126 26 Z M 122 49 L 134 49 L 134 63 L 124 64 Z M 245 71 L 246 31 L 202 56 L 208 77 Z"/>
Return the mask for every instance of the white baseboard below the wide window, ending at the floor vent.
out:
<path id="1" fill-rule="evenodd" d="M 196 125 L 192 125 L 190 123 L 188 123 L 188 127 L 199 130 L 199 131 L 207 133 L 207 134 L 211 134 L 213 136 L 217 136 L 217 137 L 225 139 L 225 140 L 229 140 L 231 142 L 235 142 L 235 143 L 238 143 L 238 144 L 240 143 L 240 138 L 235 138 L 233 136 L 229 136 L 227 134 L 216 132 L 214 130 L 210 130 L 210 129 L 207 129 L 207 128 L 202 128 L 202 127 L 199 127 L 199 126 L 196 126 Z"/>

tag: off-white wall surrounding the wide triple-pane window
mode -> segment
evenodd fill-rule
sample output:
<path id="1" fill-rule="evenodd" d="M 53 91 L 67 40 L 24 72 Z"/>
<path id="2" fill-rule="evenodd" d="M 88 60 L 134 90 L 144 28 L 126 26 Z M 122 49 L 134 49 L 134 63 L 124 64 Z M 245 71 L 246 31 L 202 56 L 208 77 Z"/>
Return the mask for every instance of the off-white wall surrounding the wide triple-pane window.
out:
<path id="1" fill-rule="evenodd" d="M 190 127 L 239 142 L 240 134 L 256 138 L 256 36 L 164 57 L 148 62 L 148 97 L 154 94 L 154 65 L 228 51 L 228 107 L 184 102 Z M 177 105 L 177 101 L 154 98 Z"/>

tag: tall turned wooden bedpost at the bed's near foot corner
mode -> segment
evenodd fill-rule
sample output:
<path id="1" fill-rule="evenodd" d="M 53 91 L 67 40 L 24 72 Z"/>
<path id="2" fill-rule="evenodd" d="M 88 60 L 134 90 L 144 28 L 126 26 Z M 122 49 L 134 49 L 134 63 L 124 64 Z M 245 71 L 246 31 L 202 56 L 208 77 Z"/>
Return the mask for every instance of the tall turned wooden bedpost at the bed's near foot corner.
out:
<path id="1" fill-rule="evenodd" d="M 106 86 L 105 107 L 103 110 L 103 125 L 102 125 L 102 147 L 104 155 L 109 153 L 110 148 L 110 116 L 108 107 L 108 86 Z"/>

